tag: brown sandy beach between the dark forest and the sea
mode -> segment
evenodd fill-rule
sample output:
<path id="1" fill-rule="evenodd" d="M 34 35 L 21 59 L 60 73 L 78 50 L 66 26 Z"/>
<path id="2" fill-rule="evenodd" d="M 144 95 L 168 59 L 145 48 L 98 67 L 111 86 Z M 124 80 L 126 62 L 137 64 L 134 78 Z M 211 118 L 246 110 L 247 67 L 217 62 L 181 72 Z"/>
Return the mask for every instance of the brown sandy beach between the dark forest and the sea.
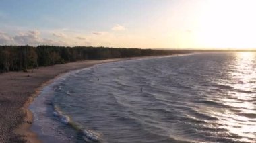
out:
<path id="1" fill-rule="evenodd" d="M 55 77 L 71 70 L 86 68 L 95 64 L 115 62 L 111 60 L 85 60 L 40 67 L 28 72 L 9 72 L 0 74 L 0 142 L 18 142 L 18 137 L 28 142 L 40 142 L 36 134 L 30 132 L 28 121 L 33 115 L 28 106 L 40 93 L 40 89 L 51 83 Z"/>

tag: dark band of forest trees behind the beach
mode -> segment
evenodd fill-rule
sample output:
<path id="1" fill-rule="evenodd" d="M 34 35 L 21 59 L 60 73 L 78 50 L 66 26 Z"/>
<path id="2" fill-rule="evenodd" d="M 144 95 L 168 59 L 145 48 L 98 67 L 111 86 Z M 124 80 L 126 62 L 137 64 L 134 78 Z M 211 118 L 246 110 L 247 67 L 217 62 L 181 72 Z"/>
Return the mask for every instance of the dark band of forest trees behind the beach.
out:
<path id="1" fill-rule="evenodd" d="M 185 54 L 186 50 L 152 50 L 139 48 L 65 47 L 65 46 L 0 46 L 0 73 L 40 66 L 65 64 L 79 60 L 105 60 L 140 56 Z"/>

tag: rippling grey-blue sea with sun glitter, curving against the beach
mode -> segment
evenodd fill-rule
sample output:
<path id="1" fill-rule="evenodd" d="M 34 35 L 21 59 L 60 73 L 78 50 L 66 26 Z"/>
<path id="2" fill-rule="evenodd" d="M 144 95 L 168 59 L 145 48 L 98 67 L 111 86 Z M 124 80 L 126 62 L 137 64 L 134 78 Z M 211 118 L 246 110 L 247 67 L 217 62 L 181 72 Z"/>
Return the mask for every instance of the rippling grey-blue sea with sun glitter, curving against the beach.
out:
<path id="1" fill-rule="evenodd" d="M 256 142 L 256 52 L 137 58 L 74 70 L 30 105 L 42 142 Z"/>

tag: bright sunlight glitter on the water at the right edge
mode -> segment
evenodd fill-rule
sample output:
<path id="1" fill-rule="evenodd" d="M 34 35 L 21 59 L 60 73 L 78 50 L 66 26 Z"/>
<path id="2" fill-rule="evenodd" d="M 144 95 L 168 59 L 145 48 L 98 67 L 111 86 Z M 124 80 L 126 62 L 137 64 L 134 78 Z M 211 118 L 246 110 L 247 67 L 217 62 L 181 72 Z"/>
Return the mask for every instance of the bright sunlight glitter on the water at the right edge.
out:
<path id="1" fill-rule="evenodd" d="M 222 128 L 228 129 L 228 132 L 245 136 L 247 138 L 256 138 L 256 114 L 255 114 L 255 52 L 238 52 L 236 54 L 235 66 L 230 67 L 232 87 L 235 91 L 228 91 L 228 98 L 222 101 L 226 105 L 236 107 L 235 109 L 226 109 L 220 120 Z M 240 141 L 249 142 L 247 138 L 238 138 Z"/>

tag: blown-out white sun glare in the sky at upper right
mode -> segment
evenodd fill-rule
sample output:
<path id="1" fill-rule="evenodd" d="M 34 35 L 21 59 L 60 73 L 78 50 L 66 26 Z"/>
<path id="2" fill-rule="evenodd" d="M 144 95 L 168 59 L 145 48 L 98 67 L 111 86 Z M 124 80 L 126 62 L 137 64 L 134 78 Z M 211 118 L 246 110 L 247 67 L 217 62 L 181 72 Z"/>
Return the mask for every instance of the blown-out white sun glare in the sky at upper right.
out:
<path id="1" fill-rule="evenodd" d="M 207 1 L 200 15 L 197 40 L 205 47 L 256 48 L 256 1 Z"/>

